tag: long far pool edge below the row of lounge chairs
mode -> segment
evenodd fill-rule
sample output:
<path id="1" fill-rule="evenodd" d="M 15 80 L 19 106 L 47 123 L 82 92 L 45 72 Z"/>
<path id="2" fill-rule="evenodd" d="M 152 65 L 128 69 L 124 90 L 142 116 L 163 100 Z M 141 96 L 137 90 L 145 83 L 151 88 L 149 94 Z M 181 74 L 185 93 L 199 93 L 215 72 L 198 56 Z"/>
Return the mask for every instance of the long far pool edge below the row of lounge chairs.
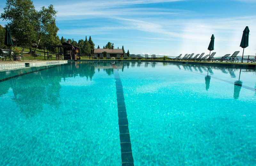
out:
<path id="1" fill-rule="evenodd" d="M 179 64 L 193 64 L 193 65 L 204 65 L 204 66 L 218 66 L 227 68 L 243 68 L 243 69 L 255 69 L 256 64 L 241 64 L 241 63 L 219 63 L 219 62 L 194 62 L 194 61 L 172 61 L 172 60 L 102 60 L 102 59 L 88 59 L 88 60 L 68 60 L 68 62 L 168 62 L 168 63 L 179 63 Z"/>

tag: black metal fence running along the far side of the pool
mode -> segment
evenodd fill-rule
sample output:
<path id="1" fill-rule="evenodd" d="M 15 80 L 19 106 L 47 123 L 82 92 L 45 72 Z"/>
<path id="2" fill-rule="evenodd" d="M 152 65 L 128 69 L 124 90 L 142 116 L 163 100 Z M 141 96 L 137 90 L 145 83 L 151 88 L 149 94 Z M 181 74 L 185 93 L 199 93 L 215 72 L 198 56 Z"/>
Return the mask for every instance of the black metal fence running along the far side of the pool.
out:
<path id="1" fill-rule="evenodd" d="M 63 60 L 64 56 L 63 54 L 58 53 L 44 53 L 44 52 L 23 52 L 23 56 L 28 59 L 42 59 L 42 60 Z M 82 54 L 76 57 L 78 60 L 90 60 L 90 59 L 109 59 L 107 57 L 100 57 L 100 55 L 91 55 L 91 54 Z M 208 58 L 206 59 L 182 59 L 183 57 L 180 57 L 179 59 L 176 59 L 176 57 L 173 56 L 162 56 L 162 55 L 140 55 L 140 54 L 130 54 L 130 55 L 120 55 L 118 58 L 116 57 L 110 57 L 110 59 L 122 59 L 122 60 L 183 60 L 183 61 L 205 61 L 205 62 L 220 62 L 221 57 L 214 57 L 211 60 Z M 228 57 L 226 60 L 222 60 L 221 62 L 233 62 L 233 63 L 242 63 L 242 56 L 236 56 L 235 58 Z M 244 56 L 243 57 L 243 63 L 256 63 L 256 56 Z"/>

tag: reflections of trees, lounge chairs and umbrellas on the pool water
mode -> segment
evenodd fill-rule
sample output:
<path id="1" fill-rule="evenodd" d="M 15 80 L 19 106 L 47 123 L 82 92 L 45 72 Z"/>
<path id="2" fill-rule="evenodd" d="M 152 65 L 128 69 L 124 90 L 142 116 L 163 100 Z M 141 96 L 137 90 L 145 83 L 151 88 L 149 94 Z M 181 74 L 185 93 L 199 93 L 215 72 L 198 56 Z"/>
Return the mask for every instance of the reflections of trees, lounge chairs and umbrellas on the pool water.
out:
<path id="1" fill-rule="evenodd" d="M 228 76 L 231 78 L 236 78 L 235 72 L 239 72 L 239 79 L 234 82 L 234 99 L 239 98 L 241 88 L 243 87 L 243 82 L 240 80 L 240 75 L 242 72 L 255 72 L 255 70 L 248 69 L 236 69 L 236 68 L 223 68 L 216 66 L 203 66 L 203 65 L 192 65 L 192 64 L 180 64 L 180 63 L 161 63 L 161 62 L 75 62 L 66 65 L 61 65 L 60 67 L 49 68 L 47 66 L 42 67 L 31 67 L 17 70 L 9 70 L 0 72 L 0 78 L 3 80 L 5 78 L 11 78 L 13 76 L 22 74 L 20 77 L 4 80 L 0 82 L 0 96 L 7 94 L 10 90 L 13 92 L 14 96 L 12 100 L 16 102 L 20 110 L 27 116 L 33 116 L 43 109 L 45 104 L 49 104 L 51 107 L 58 108 L 61 103 L 60 99 L 60 82 L 64 81 L 68 77 L 86 77 L 86 80 L 92 80 L 97 70 L 103 70 L 108 75 L 113 75 L 115 65 L 116 69 L 124 72 L 124 70 L 129 70 L 129 66 L 132 68 L 137 67 L 152 67 L 156 66 L 172 66 L 179 70 L 185 70 L 188 72 L 198 73 L 198 78 L 203 81 L 205 80 L 205 89 L 208 91 L 210 89 L 210 75 L 214 76 L 215 79 L 222 79 L 221 77 Z M 181 66 L 183 69 L 181 69 Z M 44 69 L 45 70 L 41 70 Z M 33 72 L 34 71 L 34 72 Z M 218 72 L 220 71 L 220 72 Z M 32 72 L 26 74 L 28 72 Z M 216 73 L 222 73 L 221 76 L 214 75 Z M 210 75 L 209 75 L 210 74 Z M 223 75 L 224 74 L 224 75 Z M 256 89 L 256 86 L 253 88 Z M 48 93 L 52 92 L 52 93 Z M 28 95 L 29 94 L 29 95 Z M 255 94 L 256 95 L 256 94 Z M 32 110 L 32 111 L 31 111 Z"/>

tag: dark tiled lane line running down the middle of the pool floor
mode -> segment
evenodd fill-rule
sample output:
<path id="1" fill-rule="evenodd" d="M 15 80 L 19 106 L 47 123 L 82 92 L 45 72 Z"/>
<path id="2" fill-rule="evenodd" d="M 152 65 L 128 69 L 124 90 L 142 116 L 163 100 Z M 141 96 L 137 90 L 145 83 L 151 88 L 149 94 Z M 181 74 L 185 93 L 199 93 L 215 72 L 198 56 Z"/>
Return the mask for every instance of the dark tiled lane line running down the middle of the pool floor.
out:
<path id="1" fill-rule="evenodd" d="M 119 136 L 120 136 L 122 166 L 134 166 L 133 156 L 132 156 L 132 144 L 130 140 L 128 119 L 127 119 L 126 107 L 124 102 L 123 85 L 115 64 L 113 64 L 113 68 L 114 68 L 114 76 L 116 80 L 116 100 L 117 100 L 118 124 L 119 124 L 119 132 L 120 132 Z"/>

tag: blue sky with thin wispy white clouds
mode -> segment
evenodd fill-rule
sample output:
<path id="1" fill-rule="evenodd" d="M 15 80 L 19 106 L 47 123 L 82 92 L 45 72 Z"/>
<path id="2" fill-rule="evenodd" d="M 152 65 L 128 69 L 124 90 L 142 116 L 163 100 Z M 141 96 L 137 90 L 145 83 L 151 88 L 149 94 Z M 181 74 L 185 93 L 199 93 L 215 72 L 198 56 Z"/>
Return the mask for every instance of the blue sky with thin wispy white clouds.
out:
<path id="1" fill-rule="evenodd" d="M 1 13 L 5 3 L 0 2 Z M 53 4 L 60 38 L 78 41 L 91 36 L 95 48 L 111 42 L 130 54 L 209 54 L 214 34 L 214 57 L 235 51 L 242 56 L 239 46 L 248 26 L 244 55 L 256 53 L 256 0 L 34 0 L 33 4 L 38 11 Z M 2 26 L 6 23 L 0 20 Z"/>

